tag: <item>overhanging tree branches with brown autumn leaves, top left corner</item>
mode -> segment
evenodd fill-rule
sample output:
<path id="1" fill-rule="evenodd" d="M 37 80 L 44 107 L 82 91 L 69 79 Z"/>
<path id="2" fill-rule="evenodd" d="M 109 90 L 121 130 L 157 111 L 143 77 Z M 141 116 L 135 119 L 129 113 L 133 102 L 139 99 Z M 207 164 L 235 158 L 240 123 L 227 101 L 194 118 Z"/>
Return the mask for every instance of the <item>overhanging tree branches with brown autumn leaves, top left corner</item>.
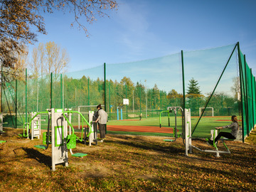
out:
<path id="1" fill-rule="evenodd" d="M 1 64 L 13 68 L 17 58 L 14 53 L 24 53 L 23 45 L 37 41 L 36 33 L 46 34 L 42 14 L 63 11 L 73 13 L 71 26 L 88 35 L 80 19 L 92 23 L 96 16 L 106 16 L 108 9 L 117 9 L 114 0 L 0 0 L 0 59 Z M 36 32 L 35 32 L 36 31 Z"/>

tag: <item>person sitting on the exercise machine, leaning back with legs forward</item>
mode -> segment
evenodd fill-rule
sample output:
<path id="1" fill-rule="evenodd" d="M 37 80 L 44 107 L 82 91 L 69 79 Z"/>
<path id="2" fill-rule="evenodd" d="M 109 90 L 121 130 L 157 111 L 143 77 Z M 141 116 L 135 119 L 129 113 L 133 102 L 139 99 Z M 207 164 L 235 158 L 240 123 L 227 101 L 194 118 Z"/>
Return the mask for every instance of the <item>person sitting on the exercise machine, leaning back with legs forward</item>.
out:
<path id="1" fill-rule="evenodd" d="M 220 137 L 225 137 L 227 139 L 236 139 L 237 138 L 238 129 L 239 129 L 238 117 L 233 115 L 231 117 L 231 120 L 233 122 L 231 124 L 228 124 L 228 125 L 223 126 L 223 127 L 215 127 L 215 129 L 232 129 L 231 132 L 220 132 L 214 140 L 215 144 L 218 142 Z M 206 141 L 208 142 L 208 144 L 213 145 L 213 140 L 206 139 Z"/>

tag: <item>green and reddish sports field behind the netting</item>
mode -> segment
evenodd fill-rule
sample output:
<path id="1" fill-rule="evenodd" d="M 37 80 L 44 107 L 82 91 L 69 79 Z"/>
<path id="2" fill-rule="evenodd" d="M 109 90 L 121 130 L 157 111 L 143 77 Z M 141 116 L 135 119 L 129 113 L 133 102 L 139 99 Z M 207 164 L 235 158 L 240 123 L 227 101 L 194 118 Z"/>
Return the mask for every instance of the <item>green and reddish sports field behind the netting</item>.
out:
<path id="1" fill-rule="evenodd" d="M 196 126 L 199 117 L 191 117 L 192 129 Z M 230 117 L 202 117 L 195 129 L 194 137 L 209 137 L 210 129 L 230 124 Z M 178 133 L 182 132 L 182 118 L 176 118 Z M 161 118 L 161 128 L 159 118 L 151 117 L 139 119 L 111 120 L 107 122 L 107 133 L 110 134 L 133 134 L 172 137 L 175 127 L 175 117 L 170 117 L 170 127 L 168 117 Z"/>

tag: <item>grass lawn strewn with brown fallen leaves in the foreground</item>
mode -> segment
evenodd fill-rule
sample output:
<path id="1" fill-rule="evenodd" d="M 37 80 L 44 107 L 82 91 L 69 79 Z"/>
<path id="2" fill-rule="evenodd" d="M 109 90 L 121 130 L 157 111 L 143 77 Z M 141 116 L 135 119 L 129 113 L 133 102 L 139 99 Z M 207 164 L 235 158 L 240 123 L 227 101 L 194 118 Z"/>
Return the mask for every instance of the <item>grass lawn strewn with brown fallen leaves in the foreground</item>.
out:
<path id="1" fill-rule="evenodd" d="M 108 134 L 98 145 L 78 143 L 69 166 L 50 171 L 51 150 L 37 149 L 41 139 L 18 137 L 22 129 L 4 129 L 0 140 L 0 191 L 256 191 L 256 132 L 245 143 L 227 142 L 231 154 L 193 150 L 164 137 Z M 213 149 L 204 140 L 193 145 Z M 222 146 L 219 146 L 222 149 Z"/>

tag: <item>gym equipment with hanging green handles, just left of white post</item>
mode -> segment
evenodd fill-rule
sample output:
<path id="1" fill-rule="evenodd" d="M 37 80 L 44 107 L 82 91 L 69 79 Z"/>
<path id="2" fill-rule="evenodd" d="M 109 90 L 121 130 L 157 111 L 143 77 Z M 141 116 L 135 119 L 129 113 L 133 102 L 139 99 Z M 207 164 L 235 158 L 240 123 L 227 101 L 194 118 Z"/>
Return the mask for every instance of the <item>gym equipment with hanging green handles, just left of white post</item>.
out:
<path id="1" fill-rule="evenodd" d="M 168 121 L 169 121 L 169 126 L 170 126 L 170 115 L 169 113 L 170 112 L 174 112 L 174 116 L 175 116 L 175 127 L 174 127 L 174 139 L 164 139 L 165 142 L 175 142 L 176 139 L 178 137 L 180 137 L 183 133 L 183 130 L 182 130 L 182 133 L 177 135 L 177 112 L 178 110 L 181 110 L 181 113 L 182 113 L 182 117 L 183 117 L 183 109 L 181 107 L 167 107 L 167 111 L 164 111 L 164 112 L 168 112 Z M 161 127 L 161 113 L 160 113 L 160 127 Z M 183 127 L 183 118 L 182 118 L 182 127 Z"/>

